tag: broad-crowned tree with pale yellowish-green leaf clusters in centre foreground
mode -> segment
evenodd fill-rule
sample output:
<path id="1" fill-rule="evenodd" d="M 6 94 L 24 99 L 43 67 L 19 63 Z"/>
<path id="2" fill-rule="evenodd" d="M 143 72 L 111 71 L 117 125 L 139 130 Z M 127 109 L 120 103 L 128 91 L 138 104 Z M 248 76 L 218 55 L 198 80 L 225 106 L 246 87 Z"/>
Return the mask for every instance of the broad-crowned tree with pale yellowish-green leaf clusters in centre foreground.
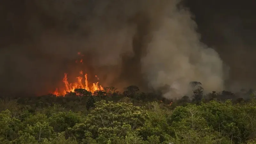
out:
<path id="1" fill-rule="evenodd" d="M 90 135 L 97 138 L 100 143 L 107 143 L 114 137 L 126 136 L 125 127 L 129 124 L 132 131 L 140 128 L 147 117 L 146 110 L 133 106 L 131 103 L 101 100 L 95 103 L 95 108 L 90 111 L 83 124 L 76 124 L 71 133 L 78 139 L 86 139 Z"/>

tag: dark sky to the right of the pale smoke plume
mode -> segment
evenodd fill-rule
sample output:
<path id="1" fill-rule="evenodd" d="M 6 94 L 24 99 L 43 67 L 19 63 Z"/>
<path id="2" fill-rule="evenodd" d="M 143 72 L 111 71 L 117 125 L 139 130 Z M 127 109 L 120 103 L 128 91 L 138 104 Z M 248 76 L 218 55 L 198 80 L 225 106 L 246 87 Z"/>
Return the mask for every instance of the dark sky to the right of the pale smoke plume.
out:
<path id="1" fill-rule="evenodd" d="M 255 87 L 256 1 L 188 0 L 201 39 L 230 67 L 230 83 Z"/>

